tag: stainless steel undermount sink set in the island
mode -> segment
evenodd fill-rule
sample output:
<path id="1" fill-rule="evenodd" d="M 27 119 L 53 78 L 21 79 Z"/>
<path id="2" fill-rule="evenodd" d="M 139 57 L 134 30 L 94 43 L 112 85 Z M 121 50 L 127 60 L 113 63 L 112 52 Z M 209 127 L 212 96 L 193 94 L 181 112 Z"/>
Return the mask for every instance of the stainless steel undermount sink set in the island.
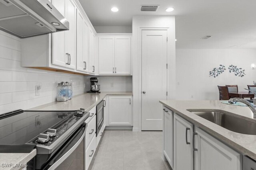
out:
<path id="1" fill-rule="evenodd" d="M 256 135 L 256 123 L 219 111 L 190 111 L 230 131 Z"/>

